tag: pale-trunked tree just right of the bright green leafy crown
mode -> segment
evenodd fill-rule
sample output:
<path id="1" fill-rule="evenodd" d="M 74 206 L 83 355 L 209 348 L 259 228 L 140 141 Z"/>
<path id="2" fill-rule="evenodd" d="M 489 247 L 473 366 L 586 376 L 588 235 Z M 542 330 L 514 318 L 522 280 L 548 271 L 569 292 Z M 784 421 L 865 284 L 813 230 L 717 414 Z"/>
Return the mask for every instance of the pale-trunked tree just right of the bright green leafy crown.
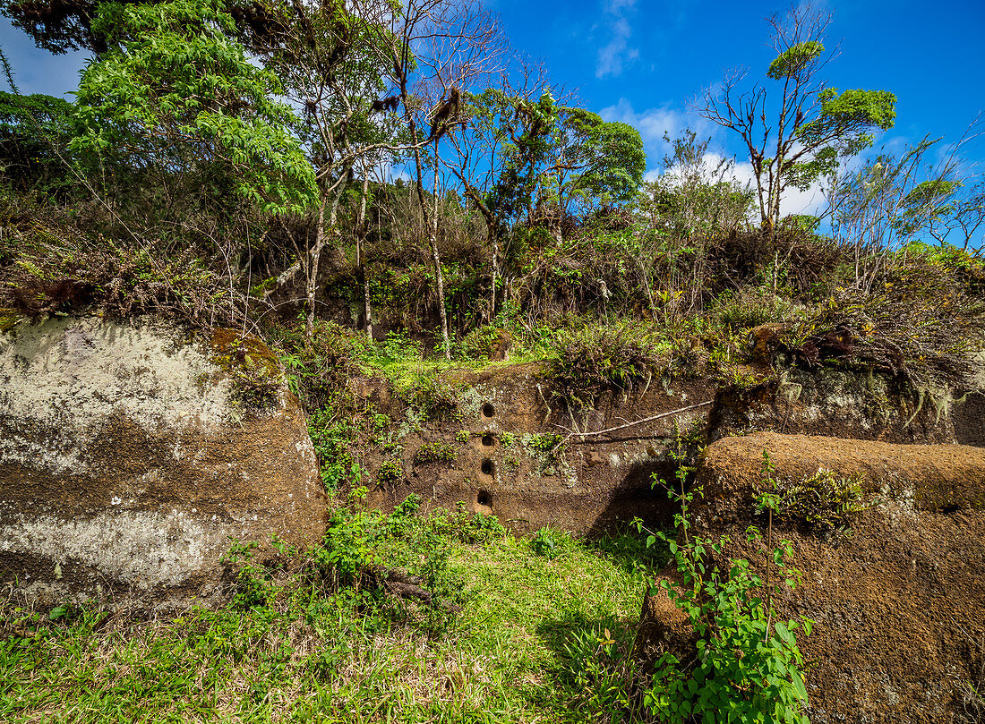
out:
<path id="1" fill-rule="evenodd" d="M 406 148 L 398 138 L 396 99 L 384 99 L 390 67 L 385 29 L 372 16 L 355 13 L 342 0 L 272 5 L 252 45 L 284 93 L 303 112 L 295 130 L 314 166 L 318 184 L 315 238 L 279 278 L 288 285 L 303 274 L 307 326 L 314 327 L 322 251 L 338 242 L 339 203 L 359 169 L 363 194 L 370 165 Z M 362 224 L 365 205 L 361 205 Z M 364 277 L 361 237 L 357 256 Z M 368 285 L 366 329 L 371 332 Z"/>

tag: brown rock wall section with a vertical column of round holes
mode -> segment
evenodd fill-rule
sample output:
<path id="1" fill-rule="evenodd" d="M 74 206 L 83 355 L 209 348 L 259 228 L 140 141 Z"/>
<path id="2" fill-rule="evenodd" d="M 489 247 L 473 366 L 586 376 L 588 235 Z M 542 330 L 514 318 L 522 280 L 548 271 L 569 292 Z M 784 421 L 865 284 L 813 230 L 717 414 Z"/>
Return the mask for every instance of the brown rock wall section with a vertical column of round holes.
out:
<path id="1" fill-rule="evenodd" d="M 463 370 L 455 381 L 464 386 L 456 415 L 403 424 L 402 459 L 390 458 L 403 476 L 379 480 L 370 489 L 370 504 L 390 509 L 411 493 L 429 507 L 454 509 L 461 501 L 470 512 L 493 513 L 518 533 L 552 526 L 594 534 L 636 517 L 662 525 L 673 520 L 673 506 L 667 494 L 653 490 L 654 476 L 673 482 L 667 445 L 675 425 L 697 426 L 703 436 L 715 396 L 703 381 L 665 386 L 654 380 L 601 396 L 572 422 L 557 404 L 549 409 L 551 390 L 537 364 Z M 380 402 L 379 409 L 385 407 Z M 605 434 L 568 436 L 575 425 L 605 430 L 682 408 Z M 448 459 L 428 461 L 420 454 L 426 445 L 441 446 Z M 369 456 L 373 474 L 383 459 L 378 448 Z"/>

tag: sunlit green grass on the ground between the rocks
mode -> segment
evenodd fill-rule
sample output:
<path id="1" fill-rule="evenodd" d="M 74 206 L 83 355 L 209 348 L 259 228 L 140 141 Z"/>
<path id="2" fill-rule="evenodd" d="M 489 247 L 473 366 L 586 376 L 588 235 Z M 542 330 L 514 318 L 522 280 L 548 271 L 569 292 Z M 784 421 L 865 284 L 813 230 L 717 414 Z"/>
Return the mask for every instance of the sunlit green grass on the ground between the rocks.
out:
<path id="1" fill-rule="evenodd" d="M 388 556 L 413 562 L 427 524 L 411 527 L 396 536 L 402 543 L 388 534 Z M 253 568 L 250 605 L 240 597 L 174 620 L 12 611 L 0 641 L 0 720 L 597 719 L 571 642 L 627 650 L 652 561 L 639 542 L 585 544 L 553 531 L 548 559 L 511 536 L 468 545 L 447 525 L 437 537 L 427 530 L 441 579 L 463 604 L 451 618 L 368 587 L 318 584 L 303 565 Z"/>

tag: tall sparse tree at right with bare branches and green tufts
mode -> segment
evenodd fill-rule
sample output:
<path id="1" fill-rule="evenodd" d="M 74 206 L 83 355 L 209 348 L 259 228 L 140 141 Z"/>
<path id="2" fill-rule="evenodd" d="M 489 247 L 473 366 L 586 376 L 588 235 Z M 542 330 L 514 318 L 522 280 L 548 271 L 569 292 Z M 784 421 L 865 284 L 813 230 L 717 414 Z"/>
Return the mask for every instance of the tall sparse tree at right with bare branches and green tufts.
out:
<path id="1" fill-rule="evenodd" d="M 771 45 L 776 58 L 766 77 L 780 86 L 779 104 L 755 84 L 743 91 L 745 71 L 732 71 L 720 90 L 693 102 L 704 118 L 742 137 L 753 165 L 763 228 L 780 220 L 780 198 L 790 186 L 806 190 L 837 171 L 839 161 L 872 146 L 873 132 L 892 127 L 896 97 L 886 91 L 827 88 L 821 70 L 832 54 L 821 42 L 830 15 L 810 4 L 773 15 Z"/>

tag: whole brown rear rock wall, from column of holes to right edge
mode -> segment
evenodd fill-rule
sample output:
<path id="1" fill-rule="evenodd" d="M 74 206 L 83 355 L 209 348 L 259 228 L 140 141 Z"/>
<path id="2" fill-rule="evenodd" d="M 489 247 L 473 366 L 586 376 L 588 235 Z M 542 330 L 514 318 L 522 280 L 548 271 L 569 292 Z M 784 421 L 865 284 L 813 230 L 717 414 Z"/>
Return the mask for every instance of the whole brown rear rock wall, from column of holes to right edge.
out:
<path id="1" fill-rule="evenodd" d="M 674 481 L 668 445 L 678 432 L 697 444 L 762 429 L 952 443 L 958 430 L 962 441 L 974 442 L 982 428 L 982 420 L 969 418 L 973 395 L 964 401 L 941 390 L 921 398 L 886 373 L 842 368 L 790 368 L 749 390 L 719 388 L 710 379 L 652 380 L 605 394 L 573 419 L 552 402 L 550 380 L 538 364 L 459 371 L 451 381 L 461 388 L 453 414 L 403 421 L 399 440 L 390 440 L 396 452 L 368 446 L 376 483 L 370 503 L 390 508 L 411 493 L 432 506 L 453 508 L 461 501 L 520 533 L 550 525 L 590 534 L 636 517 L 667 527 L 674 506 L 653 481 Z M 385 383 L 359 394 L 399 418 Z M 666 417 L 627 425 L 660 415 Z M 551 440 L 561 438 L 565 443 L 553 453 Z M 442 448 L 445 457 L 427 460 L 420 454 L 427 446 Z M 381 475 L 384 464 L 390 473 L 398 465 L 399 475 Z"/>

